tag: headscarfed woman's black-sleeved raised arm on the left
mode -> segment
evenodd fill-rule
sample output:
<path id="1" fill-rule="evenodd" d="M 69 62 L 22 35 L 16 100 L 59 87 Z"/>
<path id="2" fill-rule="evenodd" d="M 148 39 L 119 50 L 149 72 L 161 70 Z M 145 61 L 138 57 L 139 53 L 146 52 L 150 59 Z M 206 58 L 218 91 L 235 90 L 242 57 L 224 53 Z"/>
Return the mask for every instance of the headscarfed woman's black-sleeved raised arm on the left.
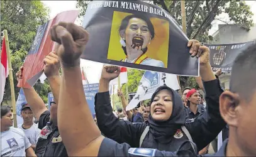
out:
<path id="1" fill-rule="evenodd" d="M 112 112 L 109 99 L 109 82 L 118 77 L 119 69 L 116 66 L 104 66 L 99 81 L 99 92 L 96 94 L 95 111 L 97 126 L 108 138 L 118 143 L 128 143 L 139 146 L 140 136 L 145 124 L 132 124 L 130 121 L 120 121 Z"/>

